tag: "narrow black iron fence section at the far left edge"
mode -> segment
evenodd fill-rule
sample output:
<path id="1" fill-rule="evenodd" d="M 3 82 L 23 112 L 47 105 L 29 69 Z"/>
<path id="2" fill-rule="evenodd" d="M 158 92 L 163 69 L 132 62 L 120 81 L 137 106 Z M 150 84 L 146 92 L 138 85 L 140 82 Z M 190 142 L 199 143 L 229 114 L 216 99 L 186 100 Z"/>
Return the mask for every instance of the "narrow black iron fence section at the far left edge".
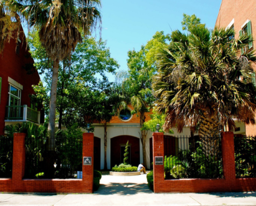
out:
<path id="1" fill-rule="evenodd" d="M 0 136 L 0 178 L 12 176 L 13 137 Z"/>

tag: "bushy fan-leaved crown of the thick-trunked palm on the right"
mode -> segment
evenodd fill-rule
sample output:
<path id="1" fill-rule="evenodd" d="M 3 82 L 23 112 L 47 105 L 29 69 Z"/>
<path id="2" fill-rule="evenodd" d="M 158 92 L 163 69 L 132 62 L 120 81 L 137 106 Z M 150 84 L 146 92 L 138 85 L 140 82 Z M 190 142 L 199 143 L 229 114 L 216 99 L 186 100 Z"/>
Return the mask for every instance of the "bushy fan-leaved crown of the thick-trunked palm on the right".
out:
<path id="1" fill-rule="evenodd" d="M 153 83 L 156 109 L 167 114 L 164 130 L 176 127 L 181 132 L 185 125 L 197 128 L 205 119 L 205 123 L 219 123 L 214 131 L 225 125 L 232 131 L 234 118 L 255 124 L 251 74 L 256 57 L 252 50 L 240 53 L 252 39 L 244 35 L 229 40 L 232 35 L 232 29 L 205 27 L 193 27 L 189 35 L 172 33 L 169 48 L 157 56 Z"/>

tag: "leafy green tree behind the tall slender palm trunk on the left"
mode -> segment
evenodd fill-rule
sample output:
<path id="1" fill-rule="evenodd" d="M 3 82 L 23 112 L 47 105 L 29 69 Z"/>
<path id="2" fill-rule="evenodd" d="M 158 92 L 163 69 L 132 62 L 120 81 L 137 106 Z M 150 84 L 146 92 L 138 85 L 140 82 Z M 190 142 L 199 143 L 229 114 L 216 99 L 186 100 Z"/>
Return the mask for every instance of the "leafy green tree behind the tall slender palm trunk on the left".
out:
<path id="1" fill-rule="evenodd" d="M 28 36 L 32 57 L 35 59 L 36 68 L 44 74 L 44 82 L 34 86 L 38 102 L 44 102 L 48 115 L 49 94 L 51 84 L 51 61 L 45 49 L 41 46 L 38 31 L 32 31 Z M 89 110 L 95 108 L 95 92 L 107 90 L 111 82 L 107 73 L 114 73 L 119 67 L 117 61 L 111 58 L 106 41 L 96 41 L 94 38 L 83 38 L 71 54 L 70 60 L 63 60 L 59 66 L 57 83 L 56 112 L 59 129 L 64 123 L 66 126 L 73 122 L 79 127 L 86 127 L 87 119 L 84 118 Z M 100 98 L 100 97 L 99 97 Z M 99 103 L 100 104 L 100 103 Z"/>

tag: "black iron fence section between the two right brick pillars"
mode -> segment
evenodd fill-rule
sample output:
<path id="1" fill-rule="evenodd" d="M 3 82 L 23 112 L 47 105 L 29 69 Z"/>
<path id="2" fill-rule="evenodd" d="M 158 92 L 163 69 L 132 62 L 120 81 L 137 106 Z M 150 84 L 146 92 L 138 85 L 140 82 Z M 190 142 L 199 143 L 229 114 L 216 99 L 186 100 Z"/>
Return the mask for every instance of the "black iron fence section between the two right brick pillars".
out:
<path id="1" fill-rule="evenodd" d="M 165 179 L 223 178 L 221 138 L 164 135 Z"/>

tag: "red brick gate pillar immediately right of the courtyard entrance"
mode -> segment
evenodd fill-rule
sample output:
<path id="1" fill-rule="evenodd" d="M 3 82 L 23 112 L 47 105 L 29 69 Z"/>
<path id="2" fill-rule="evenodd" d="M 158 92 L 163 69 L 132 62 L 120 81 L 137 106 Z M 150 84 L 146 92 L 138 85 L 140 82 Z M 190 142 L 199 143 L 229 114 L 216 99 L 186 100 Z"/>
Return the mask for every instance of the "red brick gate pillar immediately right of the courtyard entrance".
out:
<path id="1" fill-rule="evenodd" d="M 163 165 L 155 165 L 155 157 L 163 157 L 163 133 L 153 133 L 153 170 L 154 170 L 154 192 L 161 192 L 164 181 Z"/>

